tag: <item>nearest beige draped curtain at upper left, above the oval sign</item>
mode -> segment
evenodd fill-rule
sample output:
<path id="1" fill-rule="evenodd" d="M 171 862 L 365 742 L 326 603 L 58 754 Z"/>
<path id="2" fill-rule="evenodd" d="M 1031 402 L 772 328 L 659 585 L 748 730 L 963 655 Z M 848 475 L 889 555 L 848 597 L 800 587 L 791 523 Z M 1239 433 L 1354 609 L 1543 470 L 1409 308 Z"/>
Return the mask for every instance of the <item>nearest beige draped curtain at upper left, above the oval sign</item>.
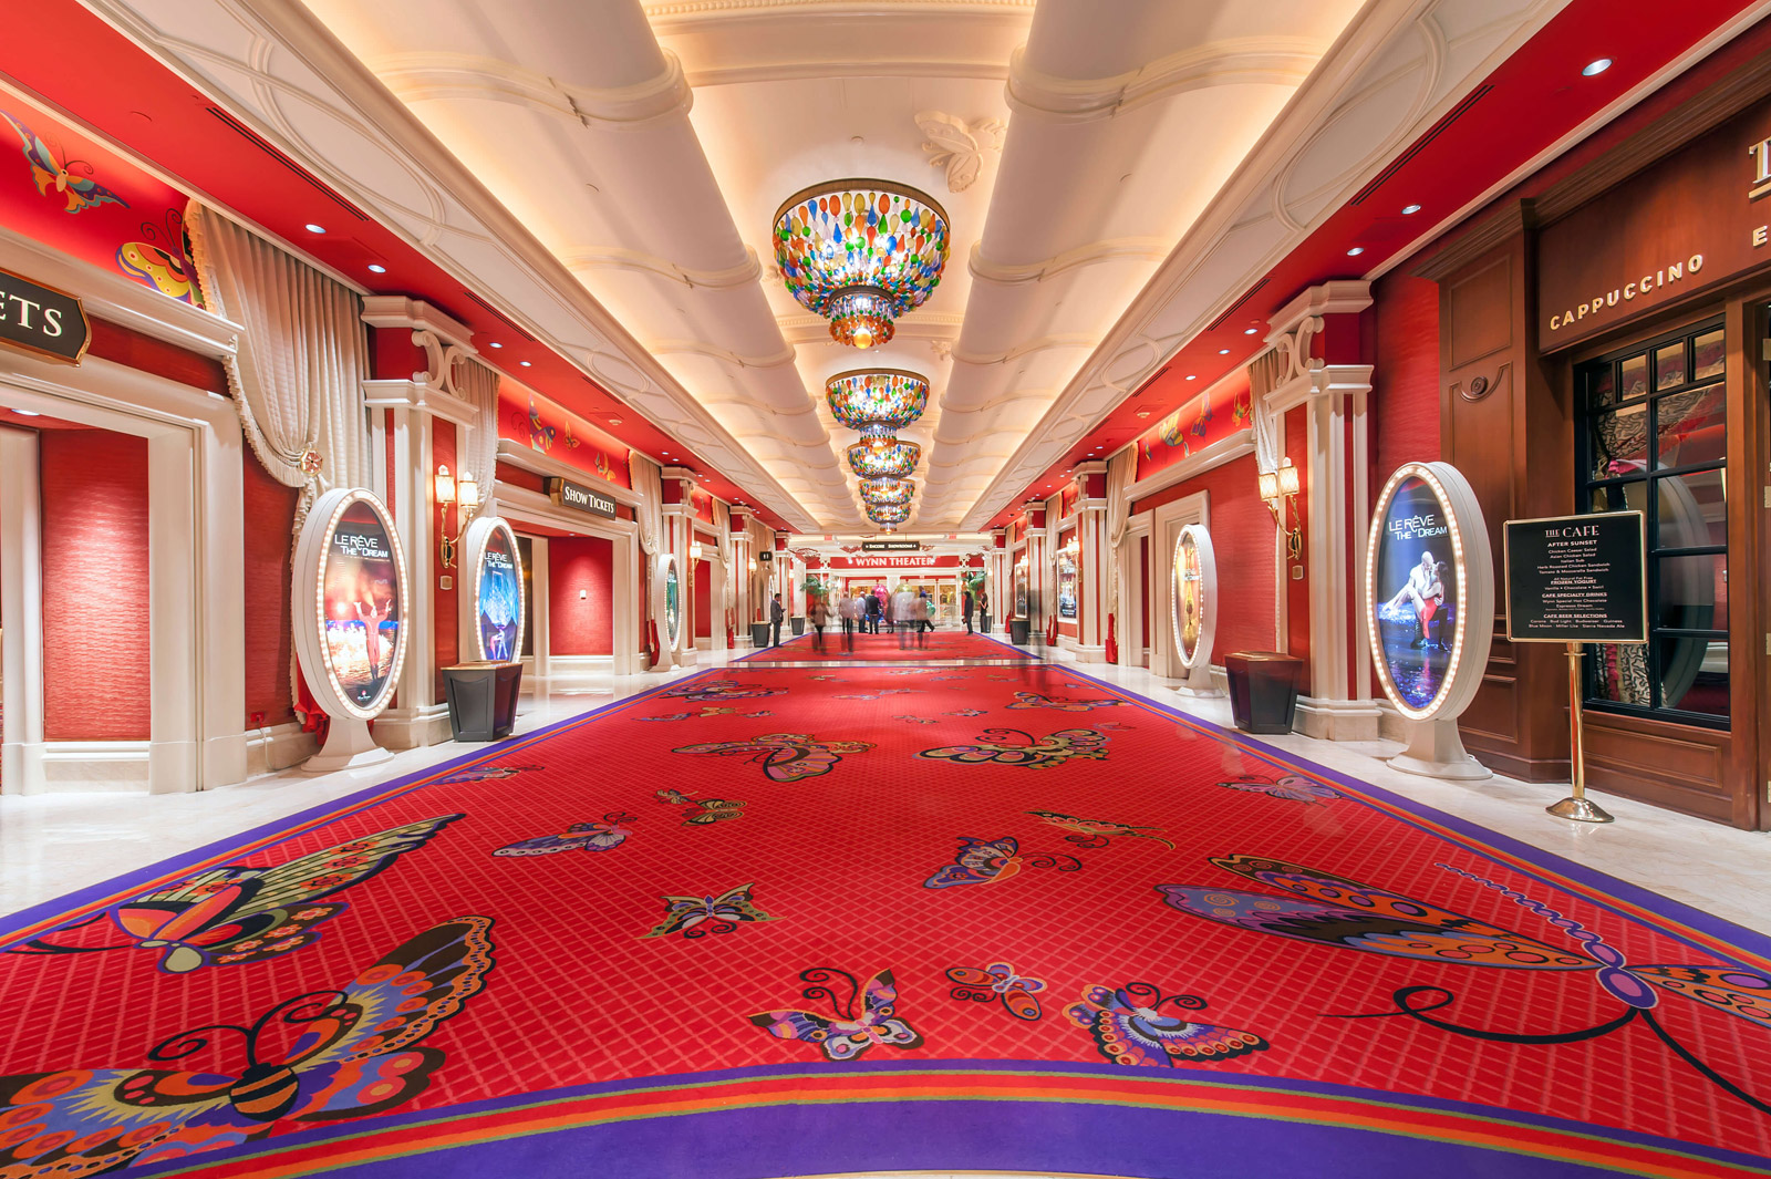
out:
<path id="1" fill-rule="evenodd" d="M 191 202 L 184 220 L 204 299 L 246 331 L 227 361 L 253 453 L 299 487 L 296 531 L 313 497 L 368 485 L 363 379 L 368 340 L 352 290 Z"/>

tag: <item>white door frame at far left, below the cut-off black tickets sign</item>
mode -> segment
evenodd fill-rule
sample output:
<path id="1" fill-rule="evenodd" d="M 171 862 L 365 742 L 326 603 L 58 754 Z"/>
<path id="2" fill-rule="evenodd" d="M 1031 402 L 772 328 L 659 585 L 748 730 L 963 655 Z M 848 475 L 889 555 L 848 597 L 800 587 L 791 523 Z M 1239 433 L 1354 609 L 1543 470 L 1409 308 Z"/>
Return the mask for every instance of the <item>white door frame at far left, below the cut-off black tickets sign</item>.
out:
<path id="1" fill-rule="evenodd" d="M 37 492 L 14 458 L 35 446 L 5 432 L 0 565 L 5 614 L 19 623 L 5 628 L 7 793 L 181 793 L 244 781 L 244 443 L 234 404 L 90 356 L 67 366 L 5 354 L 0 407 L 147 439 L 149 483 L 149 740 L 44 740 L 41 597 L 60 590 L 43 584 L 41 540 L 21 526 Z"/>

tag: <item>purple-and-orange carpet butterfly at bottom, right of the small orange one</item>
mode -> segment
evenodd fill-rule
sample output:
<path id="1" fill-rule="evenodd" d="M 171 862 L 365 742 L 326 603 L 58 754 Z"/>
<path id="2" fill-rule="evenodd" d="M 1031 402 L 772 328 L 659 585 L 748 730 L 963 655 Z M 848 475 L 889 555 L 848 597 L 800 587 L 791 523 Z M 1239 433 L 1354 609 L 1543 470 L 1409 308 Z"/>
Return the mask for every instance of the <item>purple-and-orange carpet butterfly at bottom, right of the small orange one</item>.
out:
<path id="1" fill-rule="evenodd" d="M 1096 1052 L 1125 1066 L 1176 1067 L 1233 1060 L 1268 1046 L 1254 1032 L 1164 1014 L 1164 1007 L 1176 1013 L 1203 1011 L 1206 1000 L 1197 995 L 1164 995 L 1149 982 L 1126 982 L 1119 988 L 1084 990 L 1082 1002 L 1064 1007 L 1064 1014 L 1094 1037 Z"/>

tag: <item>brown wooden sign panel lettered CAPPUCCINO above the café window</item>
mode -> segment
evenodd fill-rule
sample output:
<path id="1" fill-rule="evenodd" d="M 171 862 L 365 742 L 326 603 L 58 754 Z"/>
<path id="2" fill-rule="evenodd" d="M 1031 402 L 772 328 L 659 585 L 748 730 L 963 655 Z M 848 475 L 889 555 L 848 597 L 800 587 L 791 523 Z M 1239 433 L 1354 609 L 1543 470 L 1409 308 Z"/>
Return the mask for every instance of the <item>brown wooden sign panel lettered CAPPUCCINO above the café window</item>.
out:
<path id="1" fill-rule="evenodd" d="M 1771 262 L 1771 101 L 1537 235 L 1539 345 L 1567 347 Z"/>

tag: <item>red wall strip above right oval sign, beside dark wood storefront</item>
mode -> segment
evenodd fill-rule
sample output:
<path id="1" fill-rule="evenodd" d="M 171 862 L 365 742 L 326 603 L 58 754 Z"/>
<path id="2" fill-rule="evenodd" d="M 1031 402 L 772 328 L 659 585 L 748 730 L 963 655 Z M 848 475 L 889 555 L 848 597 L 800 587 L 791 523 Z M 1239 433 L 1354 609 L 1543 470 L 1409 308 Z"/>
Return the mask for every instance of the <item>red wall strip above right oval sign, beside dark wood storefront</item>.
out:
<path id="1" fill-rule="evenodd" d="M 1438 283 L 1385 274 L 1373 287 L 1376 361 L 1373 384 L 1371 501 L 1390 471 L 1440 457 Z"/>

